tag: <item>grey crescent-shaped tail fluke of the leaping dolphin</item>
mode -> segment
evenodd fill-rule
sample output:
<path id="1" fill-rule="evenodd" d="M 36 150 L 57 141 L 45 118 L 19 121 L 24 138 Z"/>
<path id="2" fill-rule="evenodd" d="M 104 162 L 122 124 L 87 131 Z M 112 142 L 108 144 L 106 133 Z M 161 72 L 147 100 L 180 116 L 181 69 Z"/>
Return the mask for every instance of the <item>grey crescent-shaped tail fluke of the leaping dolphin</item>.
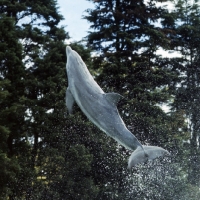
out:
<path id="1" fill-rule="evenodd" d="M 157 157 L 163 157 L 165 155 L 169 155 L 170 153 L 156 146 L 143 146 L 143 148 L 138 147 L 130 156 L 128 160 L 128 169 L 130 170 L 137 164 L 145 163 L 148 160 L 154 160 Z"/>

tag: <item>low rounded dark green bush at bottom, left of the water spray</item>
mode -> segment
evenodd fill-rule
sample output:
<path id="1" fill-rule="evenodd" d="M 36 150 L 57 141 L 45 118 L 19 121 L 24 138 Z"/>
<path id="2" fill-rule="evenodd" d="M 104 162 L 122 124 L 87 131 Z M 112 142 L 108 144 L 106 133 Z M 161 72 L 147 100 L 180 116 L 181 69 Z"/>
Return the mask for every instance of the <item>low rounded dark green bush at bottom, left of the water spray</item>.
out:
<path id="1" fill-rule="evenodd" d="M 66 172 L 61 184 L 66 189 L 62 198 L 68 199 L 95 199 L 98 189 L 95 187 L 91 171 L 92 156 L 83 145 L 71 146 L 66 157 Z M 65 180 L 65 181 L 64 181 Z M 67 180 L 67 181 L 66 181 Z M 60 185 L 62 186 L 62 185 Z"/>

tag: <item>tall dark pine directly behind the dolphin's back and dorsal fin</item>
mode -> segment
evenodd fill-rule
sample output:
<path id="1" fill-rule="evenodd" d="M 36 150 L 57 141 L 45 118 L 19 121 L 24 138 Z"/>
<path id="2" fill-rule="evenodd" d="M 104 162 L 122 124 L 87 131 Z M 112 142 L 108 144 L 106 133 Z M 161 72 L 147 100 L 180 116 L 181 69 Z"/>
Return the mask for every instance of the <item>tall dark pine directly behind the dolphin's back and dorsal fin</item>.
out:
<path id="1" fill-rule="evenodd" d="M 88 13 L 85 18 L 96 30 L 88 35 L 88 44 L 100 52 L 95 62 L 100 71 L 97 80 L 106 91 L 124 95 L 125 120 L 132 127 L 134 123 L 141 140 L 150 136 L 149 141 L 153 139 L 151 120 L 165 120 L 156 104 L 167 101 L 167 86 L 176 76 L 167 61 L 156 55 L 159 47 L 168 46 L 167 30 L 156 26 L 167 10 L 155 2 L 105 0 Z M 134 120 L 128 122 L 130 118 Z"/>

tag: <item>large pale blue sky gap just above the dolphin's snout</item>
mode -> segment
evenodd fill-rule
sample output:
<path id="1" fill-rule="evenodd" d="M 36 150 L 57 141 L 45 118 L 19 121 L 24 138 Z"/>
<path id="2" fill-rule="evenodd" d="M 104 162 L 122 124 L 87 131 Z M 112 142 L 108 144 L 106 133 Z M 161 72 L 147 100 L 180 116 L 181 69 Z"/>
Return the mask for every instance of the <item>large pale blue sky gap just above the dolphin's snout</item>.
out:
<path id="1" fill-rule="evenodd" d="M 84 12 L 88 8 L 94 8 L 94 3 L 86 0 L 57 0 L 60 14 L 65 20 L 60 24 L 67 26 L 65 30 L 71 37 L 70 41 L 80 41 L 87 35 L 90 24 L 87 20 L 82 19 Z"/>

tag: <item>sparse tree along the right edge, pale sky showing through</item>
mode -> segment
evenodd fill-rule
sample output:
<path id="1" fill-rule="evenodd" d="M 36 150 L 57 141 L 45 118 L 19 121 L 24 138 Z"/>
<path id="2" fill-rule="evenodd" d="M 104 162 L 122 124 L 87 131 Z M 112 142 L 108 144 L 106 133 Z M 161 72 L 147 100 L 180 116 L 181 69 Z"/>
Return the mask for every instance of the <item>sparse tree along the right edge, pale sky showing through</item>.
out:
<path id="1" fill-rule="evenodd" d="M 186 116 L 191 135 L 186 145 L 189 153 L 188 181 L 199 184 L 199 30 L 198 1 L 177 1 L 177 37 L 173 45 L 182 54 L 182 65 L 177 66 L 181 81 L 175 91 L 174 110 L 182 110 Z"/>

